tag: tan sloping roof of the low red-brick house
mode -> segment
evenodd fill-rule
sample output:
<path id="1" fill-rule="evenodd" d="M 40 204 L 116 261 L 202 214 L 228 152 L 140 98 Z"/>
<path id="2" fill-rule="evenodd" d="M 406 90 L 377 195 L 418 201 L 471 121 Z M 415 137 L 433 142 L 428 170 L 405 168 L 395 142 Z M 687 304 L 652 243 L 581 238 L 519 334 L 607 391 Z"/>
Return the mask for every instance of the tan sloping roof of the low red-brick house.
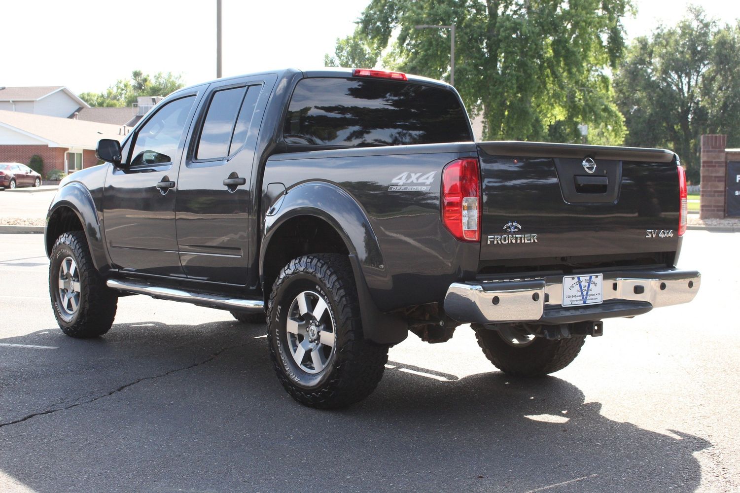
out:
<path id="1" fill-rule="evenodd" d="M 129 127 L 97 121 L 80 121 L 4 110 L 0 110 L 0 127 L 38 138 L 49 147 L 82 147 L 83 149 L 95 149 L 101 138 L 114 138 L 122 141 L 130 130 Z"/>

